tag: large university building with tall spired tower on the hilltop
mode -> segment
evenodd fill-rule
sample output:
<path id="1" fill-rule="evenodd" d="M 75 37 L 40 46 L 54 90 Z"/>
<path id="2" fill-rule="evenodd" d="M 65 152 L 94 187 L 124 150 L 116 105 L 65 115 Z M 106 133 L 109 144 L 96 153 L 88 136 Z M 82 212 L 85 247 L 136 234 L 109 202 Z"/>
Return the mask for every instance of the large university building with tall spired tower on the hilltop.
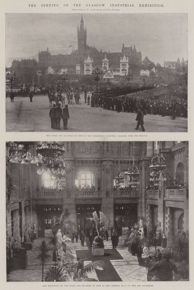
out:
<path id="1" fill-rule="evenodd" d="M 128 65 L 135 68 L 140 66 L 142 63 L 142 54 L 138 52 L 135 46 L 125 47 L 122 45 L 121 52 L 103 52 L 97 50 L 94 46 L 90 47 L 87 45 L 87 29 L 84 28 L 83 17 L 81 16 L 81 24 L 78 27 L 78 49 L 73 50 L 71 54 L 58 54 L 51 55 L 49 48 L 46 51 L 39 51 L 38 53 L 38 64 L 39 69 L 46 70 L 49 66 L 53 69 L 59 70 L 62 67 L 71 68 L 75 71 L 80 71 L 78 74 L 84 74 L 84 61 L 88 57 L 93 61 L 93 66 L 102 66 L 102 60 L 107 58 L 109 66 L 112 69 L 118 69 L 120 67 L 120 60 L 124 57 L 128 59 Z M 80 70 L 78 70 L 80 66 Z M 116 74 L 116 71 L 113 71 Z M 128 71 L 126 70 L 128 73 Z M 118 71 L 117 71 L 118 73 Z"/>

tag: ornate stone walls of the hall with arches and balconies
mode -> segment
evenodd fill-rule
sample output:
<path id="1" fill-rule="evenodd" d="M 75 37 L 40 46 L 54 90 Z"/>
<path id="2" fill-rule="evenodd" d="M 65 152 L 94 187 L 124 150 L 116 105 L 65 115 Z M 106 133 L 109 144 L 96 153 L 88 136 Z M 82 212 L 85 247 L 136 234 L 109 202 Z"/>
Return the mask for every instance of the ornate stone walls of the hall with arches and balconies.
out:
<path id="1" fill-rule="evenodd" d="M 18 145 L 9 143 L 9 150 Z M 14 148 L 14 149 L 13 149 Z M 134 148 L 134 149 L 133 149 Z M 134 151 L 133 151 L 134 150 Z M 32 155 L 36 145 L 30 145 Z M 107 227 L 118 219 L 129 228 L 145 218 L 147 229 L 159 225 L 170 246 L 178 230 L 189 229 L 188 142 L 65 142 L 66 185 L 61 191 L 52 180 L 37 174 L 37 165 L 10 162 L 7 151 L 7 231 L 20 240 L 27 226 L 36 223 L 51 228 L 52 217 L 68 211 L 69 219 L 81 230 L 92 212 L 101 210 L 107 217 Z M 150 162 L 155 153 L 166 161 L 166 181 L 158 190 L 149 186 Z M 113 179 L 118 170 L 126 172 L 133 162 L 140 171 L 139 188 L 115 189 Z M 177 180 L 182 189 L 167 189 Z M 93 187 L 84 189 L 84 184 Z"/>

